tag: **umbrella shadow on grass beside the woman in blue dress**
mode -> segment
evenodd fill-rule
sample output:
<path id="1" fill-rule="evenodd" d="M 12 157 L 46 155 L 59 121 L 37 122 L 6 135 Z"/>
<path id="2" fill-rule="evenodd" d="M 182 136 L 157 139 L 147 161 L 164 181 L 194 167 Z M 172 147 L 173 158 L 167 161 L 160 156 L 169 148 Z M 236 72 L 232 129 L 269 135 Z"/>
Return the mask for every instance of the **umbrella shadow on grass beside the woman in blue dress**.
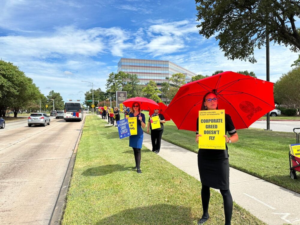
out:
<path id="1" fill-rule="evenodd" d="M 114 164 L 114 165 L 104 165 L 99 167 L 92 167 L 85 170 L 82 175 L 84 176 L 104 176 L 110 173 L 129 170 L 131 167 L 124 167 L 124 165 Z"/>

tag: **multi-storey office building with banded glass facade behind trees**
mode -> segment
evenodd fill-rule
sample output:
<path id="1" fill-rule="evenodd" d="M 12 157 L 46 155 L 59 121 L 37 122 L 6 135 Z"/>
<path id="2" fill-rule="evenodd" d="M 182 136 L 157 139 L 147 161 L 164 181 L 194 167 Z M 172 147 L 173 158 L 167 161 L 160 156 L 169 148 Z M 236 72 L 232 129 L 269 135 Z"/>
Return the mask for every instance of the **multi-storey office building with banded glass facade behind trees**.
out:
<path id="1" fill-rule="evenodd" d="M 142 85 L 147 85 L 150 80 L 153 80 L 157 83 L 159 89 L 161 83 L 168 82 L 166 77 L 171 77 L 174 73 L 183 73 L 185 82 L 190 82 L 192 76 L 197 75 L 170 61 L 135 58 L 121 58 L 118 62 L 119 71 L 137 74 Z M 172 85 L 172 82 L 170 82 L 170 85 Z"/>

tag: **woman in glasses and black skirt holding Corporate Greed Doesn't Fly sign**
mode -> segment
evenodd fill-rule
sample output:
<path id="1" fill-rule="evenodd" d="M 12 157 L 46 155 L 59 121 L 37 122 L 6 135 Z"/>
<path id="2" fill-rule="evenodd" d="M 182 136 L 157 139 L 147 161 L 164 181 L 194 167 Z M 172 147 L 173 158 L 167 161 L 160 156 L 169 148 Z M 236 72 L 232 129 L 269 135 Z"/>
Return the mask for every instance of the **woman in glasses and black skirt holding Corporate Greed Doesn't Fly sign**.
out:
<path id="1" fill-rule="evenodd" d="M 203 97 L 201 110 L 216 110 L 218 98 L 215 93 L 208 92 Z M 201 134 L 197 131 L 196 142 L 201 141 Z M 234 128 L 231 117 L 225 112 L 225 134 L 228 132 L 230 137 L 224 135 L 226 143 L 235 143 L 238 141 L 238 134 Z M 200 137 L 200 138 L 199 138 Z M 201 199 L 203 215 L 198 224 L 203 224 L 208 220 L 208 204 L 210 198 L 210 187 L 219 189 L 224 202 L 225 225 L 231 224 L 232 216 L 232 196 L 229 190 L 229 161 L 228 148 L 226 150 L 199 149 L 198 151 L 198 169 L 202 184 Z"/>

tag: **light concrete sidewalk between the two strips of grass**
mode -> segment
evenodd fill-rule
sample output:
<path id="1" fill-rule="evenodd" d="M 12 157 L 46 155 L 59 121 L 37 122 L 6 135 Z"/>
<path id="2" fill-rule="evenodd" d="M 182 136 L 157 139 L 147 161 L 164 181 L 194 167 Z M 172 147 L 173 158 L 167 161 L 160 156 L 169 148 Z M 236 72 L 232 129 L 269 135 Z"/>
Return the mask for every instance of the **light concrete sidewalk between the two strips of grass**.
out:
<path id="1" fill-rule="evenodd" d="M 151 136 L 147 133 L 144 133 L 143 145 L 152 149 Z M 200 180 L 196 153 L 161 140 L 158 155 Z M 287 168 L 286 176 L 288 172 Z M 231 167 L 229 182 L 233 200 L 260 220 L 270 225 L 300 225 L 300 194 Z"/>

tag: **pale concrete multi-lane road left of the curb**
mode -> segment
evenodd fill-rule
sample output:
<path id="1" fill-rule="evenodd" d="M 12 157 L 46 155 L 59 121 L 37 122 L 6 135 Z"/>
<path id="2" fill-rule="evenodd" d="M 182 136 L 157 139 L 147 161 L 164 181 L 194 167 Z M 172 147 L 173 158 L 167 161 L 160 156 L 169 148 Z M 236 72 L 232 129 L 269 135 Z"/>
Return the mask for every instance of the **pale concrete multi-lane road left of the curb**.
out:
<path id="1" fill-rule="evenodd" d="M 48 224 L 82 122 L 51 117 L 46 127 L 27 120 L 0 130 L 0 224 Z"/>

